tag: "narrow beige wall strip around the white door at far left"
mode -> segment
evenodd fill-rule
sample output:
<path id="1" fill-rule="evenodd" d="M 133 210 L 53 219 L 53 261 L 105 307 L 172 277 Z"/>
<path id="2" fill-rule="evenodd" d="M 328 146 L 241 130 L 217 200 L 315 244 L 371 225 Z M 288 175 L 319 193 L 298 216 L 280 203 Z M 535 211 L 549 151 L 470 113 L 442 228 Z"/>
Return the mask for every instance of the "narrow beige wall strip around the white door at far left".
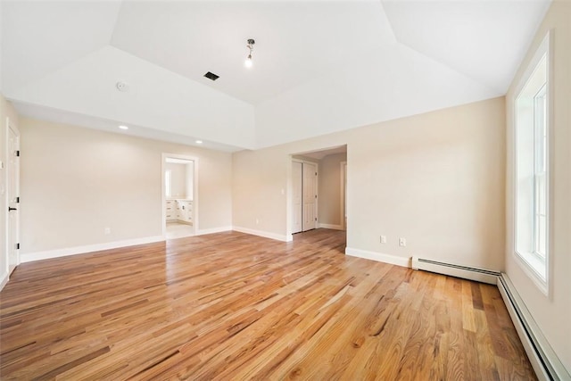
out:
<path id="1" fill-rule="evenodd" d="M 12 123 L 18 127 L 18 114 L 12 104 L 4 98 L 4 95 L 0 94 L 0 161 L 4 163 L 3 168 L 0 169 L 0 283 L 2 283 L 4 278 L 8 275 L 8 253 L 6 252 L 5 245 L 8 216 L 8 212 L 6 211 L 6 165 L 8 161 L 6 153 L 6 118 L 10 118 Z"/>

